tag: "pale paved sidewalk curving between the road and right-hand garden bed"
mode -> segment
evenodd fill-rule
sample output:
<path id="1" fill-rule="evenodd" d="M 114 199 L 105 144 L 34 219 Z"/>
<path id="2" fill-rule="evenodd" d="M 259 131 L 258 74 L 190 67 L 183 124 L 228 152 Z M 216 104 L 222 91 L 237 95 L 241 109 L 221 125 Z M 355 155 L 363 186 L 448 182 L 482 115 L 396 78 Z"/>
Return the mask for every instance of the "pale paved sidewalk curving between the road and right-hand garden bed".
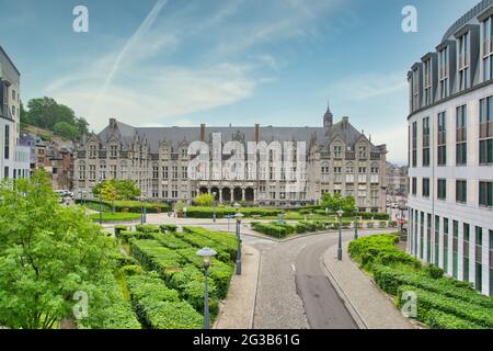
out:
<path id="1" fill-rule="evenodd" d="M 337 246 L 332 246 L 323 254 L 322 262 L 356 322 L 367 329 L 414 329 L 393 302 L 348 258 L 347 247 L 348 242 L 345 242 L 342 261 L 336 259 Z"/>

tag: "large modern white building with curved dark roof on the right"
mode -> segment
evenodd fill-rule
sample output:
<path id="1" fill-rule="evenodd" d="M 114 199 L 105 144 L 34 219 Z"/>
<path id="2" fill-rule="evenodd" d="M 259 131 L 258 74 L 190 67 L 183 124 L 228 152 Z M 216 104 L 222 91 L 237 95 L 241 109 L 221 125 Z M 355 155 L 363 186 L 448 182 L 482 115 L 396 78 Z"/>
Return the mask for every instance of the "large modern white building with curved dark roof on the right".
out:
<path id="1" fill-rule="evenodd" d="M 493 1 L 461 16 L 408 79 L 408 249 L 492 295 Z"/>

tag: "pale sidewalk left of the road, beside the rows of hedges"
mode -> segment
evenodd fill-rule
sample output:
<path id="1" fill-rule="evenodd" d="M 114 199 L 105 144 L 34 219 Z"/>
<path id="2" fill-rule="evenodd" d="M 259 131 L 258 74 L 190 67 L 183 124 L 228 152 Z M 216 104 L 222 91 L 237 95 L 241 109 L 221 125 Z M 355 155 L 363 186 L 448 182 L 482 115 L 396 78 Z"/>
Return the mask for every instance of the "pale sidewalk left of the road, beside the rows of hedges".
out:
<path id="1" fill-rule="evenodd" d="M 259 281 L 260 252 L 243 246 L 242 274 L 233 275 L 214 329 L 251 329 Z"/>

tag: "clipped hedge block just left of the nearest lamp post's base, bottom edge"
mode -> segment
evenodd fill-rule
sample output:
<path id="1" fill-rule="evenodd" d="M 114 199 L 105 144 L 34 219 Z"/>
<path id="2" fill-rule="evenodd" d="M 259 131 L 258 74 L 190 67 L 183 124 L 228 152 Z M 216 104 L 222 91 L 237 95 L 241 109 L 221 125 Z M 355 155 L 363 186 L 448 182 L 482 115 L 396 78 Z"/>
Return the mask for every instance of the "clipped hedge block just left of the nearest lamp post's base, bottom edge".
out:
<path id="1" fill-rule="evenodd" d="M 131 302 L 142 324 L 151 329 L 199 329 L 203 317 L 175 290 L 154 275 L 131 276 L 127 282 Z"/>

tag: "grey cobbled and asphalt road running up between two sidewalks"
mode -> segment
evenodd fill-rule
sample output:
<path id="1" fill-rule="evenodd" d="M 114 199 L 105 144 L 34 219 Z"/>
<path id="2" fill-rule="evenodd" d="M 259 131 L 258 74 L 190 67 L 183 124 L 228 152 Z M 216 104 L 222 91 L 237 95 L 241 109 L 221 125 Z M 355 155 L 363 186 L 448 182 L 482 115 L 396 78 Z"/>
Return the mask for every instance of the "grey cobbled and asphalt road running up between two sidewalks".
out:
<path id="1" fill-rule="evenodd" d="M 362 235 L 386 230 L 362 230 Z M 351 240 L 352 230 L 343 234 Z M 356 329 L 321 263 L 323 252 L 337 244 L 337 234 L 300 237 L 285 242 L 243 236 L 261 251 L 255 329 Z M 347 259 L 347 258 L 345 258 Z"/>

